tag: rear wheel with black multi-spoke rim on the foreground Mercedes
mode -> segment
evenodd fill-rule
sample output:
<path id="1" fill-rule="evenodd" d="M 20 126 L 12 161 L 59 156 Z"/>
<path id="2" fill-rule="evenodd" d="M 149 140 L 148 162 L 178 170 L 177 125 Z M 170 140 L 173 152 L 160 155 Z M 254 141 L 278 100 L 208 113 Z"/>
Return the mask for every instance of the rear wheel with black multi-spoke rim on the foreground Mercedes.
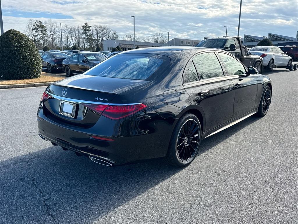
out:
<path id="1" fill-rule="evenodd" d="M 173 130 L 166 162 L 176 167 L 189 165 L 198 153 L 201 135 L 199 119 L 192 113 L 184 114 Z"/>

